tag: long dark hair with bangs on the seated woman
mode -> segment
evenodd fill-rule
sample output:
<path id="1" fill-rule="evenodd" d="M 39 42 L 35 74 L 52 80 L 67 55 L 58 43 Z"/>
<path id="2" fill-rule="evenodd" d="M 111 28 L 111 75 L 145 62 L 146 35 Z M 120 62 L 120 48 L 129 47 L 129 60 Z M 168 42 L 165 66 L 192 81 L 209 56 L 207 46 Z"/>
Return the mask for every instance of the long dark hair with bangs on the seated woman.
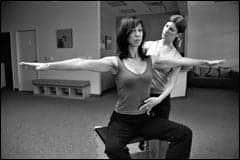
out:
<path id="1" fill-rule="evenodd" d="M 142 48 L 143 42 L 146 37 L 146 32 L 145 32 L 143 22 L 140 19 L 133 16 L 133 17 L 122 18 L 119 29 L 118 29 L 117 45 L 118 45 L 119 58 L 121 60 L 130 57 L 130 53 L 128 51 L 128 46 L 129 46 L 128 37 L 131 34 L 132 29 L 137 27 L 137 25 L 139 24 L 141 24 L 143 28 L 143 38 L 140 46 L 138 47 L 138 54 L 142 60 L 148 57 L 146 56 Z"/>

